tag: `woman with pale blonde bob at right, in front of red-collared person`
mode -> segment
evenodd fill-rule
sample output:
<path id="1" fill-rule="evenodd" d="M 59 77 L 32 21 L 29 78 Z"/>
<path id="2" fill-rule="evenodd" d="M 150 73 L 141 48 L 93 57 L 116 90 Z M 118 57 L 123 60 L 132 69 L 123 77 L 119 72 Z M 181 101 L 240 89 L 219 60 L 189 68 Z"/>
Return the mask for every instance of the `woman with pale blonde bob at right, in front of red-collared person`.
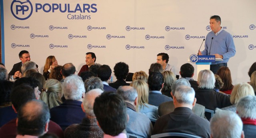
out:
<path id="1" fill-rule="evenodd" d="M 236 112 L 236 104 L 238 101 L 245 97 L 245 96 L 255 96 L 252 86 L 248 83 L 238 83 L 234 86 L 231 96 L 230 96 L 230 103 L 232 105 L 221 108 L 222 110 L 230 110 L 232 112 Z"/>

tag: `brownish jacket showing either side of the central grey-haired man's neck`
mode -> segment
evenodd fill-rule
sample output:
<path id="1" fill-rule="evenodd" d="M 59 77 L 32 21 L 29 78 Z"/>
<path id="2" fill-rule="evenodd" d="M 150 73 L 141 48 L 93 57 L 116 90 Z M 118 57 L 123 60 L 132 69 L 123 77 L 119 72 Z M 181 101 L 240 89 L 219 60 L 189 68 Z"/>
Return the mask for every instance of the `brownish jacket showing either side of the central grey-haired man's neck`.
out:
<path id="1" fill-rule="evenodd" d="M 165 102 L 158 106 L 158 113 L 160 116 L 169 114 L 170 112 L 174 111 L 174 104 L 173 102 Z M 195 104 L 192 108 L 192 112 L 202 118 L 204 118 L 205 107 L 201 104 Z"/>

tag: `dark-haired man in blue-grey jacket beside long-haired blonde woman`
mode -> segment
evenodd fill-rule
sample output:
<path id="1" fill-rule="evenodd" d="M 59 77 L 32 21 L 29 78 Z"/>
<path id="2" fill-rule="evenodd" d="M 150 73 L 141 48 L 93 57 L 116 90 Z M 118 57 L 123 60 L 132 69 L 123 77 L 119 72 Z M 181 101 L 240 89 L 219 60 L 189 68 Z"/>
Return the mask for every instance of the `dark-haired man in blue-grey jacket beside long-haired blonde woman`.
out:
<path id="1" fill-rule="evenodd" d="M 164 77 L 160 72 L 151 72 L 148 76 L 149 96 L 148 103 L 159 106 L 161 103 L 173 101 L 172 98 L 162 95 L 161 89 L 164 86 Z"/>

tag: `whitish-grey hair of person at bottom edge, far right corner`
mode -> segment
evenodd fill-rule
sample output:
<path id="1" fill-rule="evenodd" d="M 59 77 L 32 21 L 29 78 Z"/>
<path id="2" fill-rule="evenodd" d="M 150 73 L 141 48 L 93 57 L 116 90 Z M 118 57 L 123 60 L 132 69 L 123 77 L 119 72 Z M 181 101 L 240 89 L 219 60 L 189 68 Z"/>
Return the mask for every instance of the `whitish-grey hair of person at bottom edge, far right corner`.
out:
<path id="1" fill-rule="evenodd" d="M 213 138 L 241 138 L 243 123 L 241 118 L 228 110 L 215 110 L 210 120 L 210 128 Z"/>

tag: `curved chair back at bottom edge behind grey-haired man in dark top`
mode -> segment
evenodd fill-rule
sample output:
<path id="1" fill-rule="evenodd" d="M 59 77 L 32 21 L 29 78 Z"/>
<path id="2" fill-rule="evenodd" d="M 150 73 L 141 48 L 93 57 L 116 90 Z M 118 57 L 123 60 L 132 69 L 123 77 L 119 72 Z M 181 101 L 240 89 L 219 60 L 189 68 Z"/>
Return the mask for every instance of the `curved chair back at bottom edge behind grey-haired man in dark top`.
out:
<path id="1" fill-rule="evenodd" d="M 172 137 L 172 136 L 179 136 L 183 138 L 200 138 L 200 136 L 195 136 L 195 135 L 186 134 L 186 133 L 178 133 L 178 132 L 155 134 L 155 135 L 151 135 L 151 138 L 164 138 L 164 137 Z"/>

